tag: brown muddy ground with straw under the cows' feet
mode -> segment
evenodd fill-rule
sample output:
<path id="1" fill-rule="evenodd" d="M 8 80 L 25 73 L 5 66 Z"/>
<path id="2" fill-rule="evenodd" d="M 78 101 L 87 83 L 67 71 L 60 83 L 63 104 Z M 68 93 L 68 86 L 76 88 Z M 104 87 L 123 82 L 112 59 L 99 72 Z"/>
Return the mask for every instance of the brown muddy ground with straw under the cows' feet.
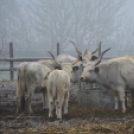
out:
<path id="1" fill-rule="evenodd" d="M 4 83 L 16 88 L 15 83 Z M 4 85 L 3 84 L 3 85 Z M 1 86 L 3 88 L 5 87 Z M 7 86 L 8 85 L 8 86 Z M 74 93 L 74 92 L 73 92 Z M 72 94 L 72 92 L 71 92 Z M 33 114 L 16 114 L 15 101 L 3 103 L 0 99 L 0 133 L 5 134 L 134 134 L 134 109 L 91 109 L 79 107 L 75 95 L 69 102 L 69 114 L 63 121 L 50 121 L 48 111 L 42 110 L 42 102 L 32 103 Z M 5 98 L 5 99 L 8 99 Z"/>

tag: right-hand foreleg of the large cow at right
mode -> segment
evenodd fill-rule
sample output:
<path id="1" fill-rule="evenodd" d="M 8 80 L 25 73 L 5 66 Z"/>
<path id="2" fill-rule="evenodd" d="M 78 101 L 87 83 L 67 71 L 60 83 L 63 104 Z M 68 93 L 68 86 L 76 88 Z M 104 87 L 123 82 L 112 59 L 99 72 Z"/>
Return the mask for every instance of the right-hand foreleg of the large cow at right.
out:
<path id="1" fill-rule="evenodd" d="M 118 91 L 118 95 L 119 95 L 119 98 L 120 98 L 122 111 L 125 112 L 126 111 L 126 105 L 125 105 L 125 88 L 118 87 L 117 91 Z"/>

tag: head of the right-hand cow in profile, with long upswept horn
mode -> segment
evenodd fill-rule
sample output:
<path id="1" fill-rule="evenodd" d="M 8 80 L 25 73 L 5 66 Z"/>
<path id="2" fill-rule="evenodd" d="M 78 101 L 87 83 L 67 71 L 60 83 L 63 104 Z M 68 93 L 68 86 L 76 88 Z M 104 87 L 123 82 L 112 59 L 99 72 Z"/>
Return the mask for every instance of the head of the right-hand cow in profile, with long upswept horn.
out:
<path id="1" fill-rule="evenodd" d="M 101 63 L 102 56 L 111 48 L 103 51 L 96 62 L 88 62 L 83 68 L 83 72 L 81 74 L 80 80 L 83 82 L 93 83 L 96 81 L 96 76 L 99 73 L 99 65 Z"/>

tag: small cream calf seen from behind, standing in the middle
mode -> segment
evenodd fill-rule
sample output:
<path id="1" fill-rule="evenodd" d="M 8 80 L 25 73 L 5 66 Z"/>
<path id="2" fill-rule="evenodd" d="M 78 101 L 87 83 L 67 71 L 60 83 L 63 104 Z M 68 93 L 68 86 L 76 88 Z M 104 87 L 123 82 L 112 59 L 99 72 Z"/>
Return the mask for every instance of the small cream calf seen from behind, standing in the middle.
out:
<path id="1" fill-rule="evenodd" d="M 68 114 L 70 77 L 63 70 L 53 70 L 48 73 L 47 94 L 49 106 L 49 118 L 53 117 L 53 109 L 56 107 L 57 119 L 62 120 L 62 106 L 64 105 L 64 114 Z"/>

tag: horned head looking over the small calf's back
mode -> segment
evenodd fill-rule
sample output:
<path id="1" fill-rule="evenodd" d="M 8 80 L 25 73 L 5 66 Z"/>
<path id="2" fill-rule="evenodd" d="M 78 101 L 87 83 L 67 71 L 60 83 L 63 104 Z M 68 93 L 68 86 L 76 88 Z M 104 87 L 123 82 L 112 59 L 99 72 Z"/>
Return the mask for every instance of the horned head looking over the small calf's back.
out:
<path id="1" fill-rule="evenodd" d="M 76 59 L 76 61 L 74 61 L 73 63 L 59 63 L 56 60 L 56 58 L 53 56 L 53 54 L 51 52 L 49 52 L 49 53 L 52 56 L 52 58 L 54 59 L 54 61 L 56 62 L 56 64 L 58 66 L 60 66 L 62 70 L 64 70 L 65 72 L 67 72 L 69 74 L 71 82 L 72 83 L 78 82 L 78 77 L 77 77 L 76 71 L 79 69 L 79 66 L 76 65 L 76 63 L 79 62 L 79 59 Z"/>

